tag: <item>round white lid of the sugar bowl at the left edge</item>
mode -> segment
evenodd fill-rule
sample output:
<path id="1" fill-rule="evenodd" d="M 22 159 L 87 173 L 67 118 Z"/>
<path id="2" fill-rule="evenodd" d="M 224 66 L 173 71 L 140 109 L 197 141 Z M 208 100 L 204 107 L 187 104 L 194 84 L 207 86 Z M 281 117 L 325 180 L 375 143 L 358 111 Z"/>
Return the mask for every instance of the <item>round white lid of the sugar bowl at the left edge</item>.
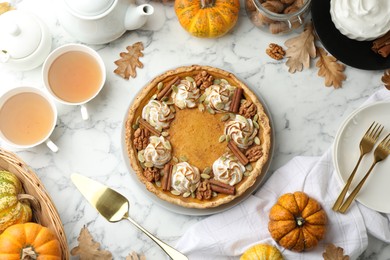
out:
<path id="1" fill-rule="evenodd" d="M 0 52 L 12 59 L 22 59 L 38 49 L 42 29 L 29 13 L 13 10 L 0 15 Z"/>

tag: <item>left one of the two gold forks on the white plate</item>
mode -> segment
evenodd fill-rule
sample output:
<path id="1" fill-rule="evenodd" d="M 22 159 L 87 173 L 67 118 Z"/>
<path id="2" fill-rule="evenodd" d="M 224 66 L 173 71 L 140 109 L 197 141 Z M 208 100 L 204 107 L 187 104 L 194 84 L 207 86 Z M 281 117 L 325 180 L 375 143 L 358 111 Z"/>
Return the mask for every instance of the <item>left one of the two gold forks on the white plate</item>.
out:
<path id="1" fill-rule="evenodd" d="M 349 189 L 349 186 L 351 185 L 352 179 L 355 176 L 356 170 L 358 169 L 360 162 L 364 155 L 371 152 L 372 148 L 374 147 L 376 141 L 378 140 L 379 135 L 382 133 L 383 126 L 381 126 L 378 123 L 373 122 L 371 126 L 367 129 L 366 133 L 362 137 L 362 140 L 360 141 L 359 147 L 360 147 L 360 156 L 359 160 L 356 163 L 355 168 L 353 169 L 351 175 L 349 176 L 347 183 L 345 184 L 343 190 L 341 191 L 339 197 L 337 198 L 336 202 L 334 203 L 332 209 L 334 211 L 338 211 L 341 204 L 343 203 L 343 200 L 345 198 L 345 195 L 347 194 L 347 191 Z"/>

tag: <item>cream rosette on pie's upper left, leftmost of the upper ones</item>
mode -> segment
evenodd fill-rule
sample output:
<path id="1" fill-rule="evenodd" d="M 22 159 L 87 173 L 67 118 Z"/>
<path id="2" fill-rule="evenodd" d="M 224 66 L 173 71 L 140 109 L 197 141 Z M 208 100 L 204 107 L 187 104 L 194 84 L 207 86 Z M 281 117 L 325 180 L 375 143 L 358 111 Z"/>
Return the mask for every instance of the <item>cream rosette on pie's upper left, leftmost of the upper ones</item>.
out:
<path id="1" fill-rule="evenodd" d="M 158 100 L 150 100 L 142 109 L 142 118 L 159 131 L 168 128 L 174 117 L 169 106 Z"/>

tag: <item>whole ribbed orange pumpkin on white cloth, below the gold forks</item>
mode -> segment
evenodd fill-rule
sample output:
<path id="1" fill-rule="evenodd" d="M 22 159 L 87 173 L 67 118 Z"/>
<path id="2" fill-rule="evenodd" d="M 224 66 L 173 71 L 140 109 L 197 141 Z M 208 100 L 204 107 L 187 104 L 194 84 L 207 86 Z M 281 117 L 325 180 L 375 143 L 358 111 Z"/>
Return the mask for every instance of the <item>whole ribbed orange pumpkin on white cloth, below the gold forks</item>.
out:
<path id="1" fill-rule="evenodd" d="M 280 196 L 269 218 L 268 230 L 273 239 L 296 252 L 314 248 L 326 233 L 325 211 L 303 192 Z"/>

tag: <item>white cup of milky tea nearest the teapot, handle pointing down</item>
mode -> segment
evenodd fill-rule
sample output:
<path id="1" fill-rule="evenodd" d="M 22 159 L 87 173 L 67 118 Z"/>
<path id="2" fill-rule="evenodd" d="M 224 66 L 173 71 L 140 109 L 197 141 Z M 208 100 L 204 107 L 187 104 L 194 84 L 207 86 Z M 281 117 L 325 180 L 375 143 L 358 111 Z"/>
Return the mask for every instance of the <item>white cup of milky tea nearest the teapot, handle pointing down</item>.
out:
<path id="1" fill-rule="evenodd" d="M 84 120 L 89 118 L 85 104 L 96 97 L 105 81 L 102 58 L 86 45 L 63 45 L 51 52 L 43 64 L 46 89 L 60 103 L 80 105 Z"/>

